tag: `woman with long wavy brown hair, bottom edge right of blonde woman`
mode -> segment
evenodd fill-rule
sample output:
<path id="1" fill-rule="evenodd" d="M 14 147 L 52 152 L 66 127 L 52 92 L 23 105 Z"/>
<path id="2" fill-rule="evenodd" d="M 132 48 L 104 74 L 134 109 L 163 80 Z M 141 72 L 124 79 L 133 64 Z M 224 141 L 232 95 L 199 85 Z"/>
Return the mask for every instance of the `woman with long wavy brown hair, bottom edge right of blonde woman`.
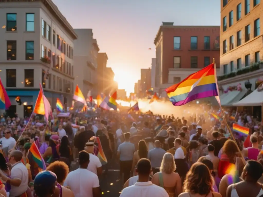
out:
<path id="1" fill-rule="evenodd" d="M 186 174 L 184 193 L 178 197 L 222 197 L 213 190 L 213 177 L 208 167 L 200 162 L 194 163 Z"/>

